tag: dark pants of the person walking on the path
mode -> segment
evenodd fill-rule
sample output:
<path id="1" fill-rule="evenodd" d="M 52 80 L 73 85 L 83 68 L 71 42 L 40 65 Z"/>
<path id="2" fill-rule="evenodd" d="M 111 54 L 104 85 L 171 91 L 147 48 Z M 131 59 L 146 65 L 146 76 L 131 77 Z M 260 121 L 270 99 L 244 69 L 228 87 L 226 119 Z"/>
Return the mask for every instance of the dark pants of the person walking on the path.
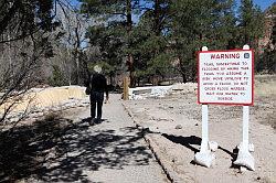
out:
<path id="1" fill-rule="evenodd" d="M 97 108 L 97 120 L 102 119 L 102 107 L 104 103 L 104 93 L 92 92 L 91 94 L 91 117 L 95 118 Z"/>

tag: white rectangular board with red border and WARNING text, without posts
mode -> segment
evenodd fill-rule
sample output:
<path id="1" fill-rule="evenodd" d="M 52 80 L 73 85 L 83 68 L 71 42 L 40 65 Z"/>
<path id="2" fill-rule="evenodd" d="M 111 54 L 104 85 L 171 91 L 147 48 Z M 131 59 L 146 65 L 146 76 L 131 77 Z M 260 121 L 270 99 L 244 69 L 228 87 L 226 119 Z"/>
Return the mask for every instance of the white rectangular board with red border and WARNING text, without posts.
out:
<path id="1" fill-rule="evenodd" d="M 253 105 L 252 50 L 198 53 L 198 103 Z"/>

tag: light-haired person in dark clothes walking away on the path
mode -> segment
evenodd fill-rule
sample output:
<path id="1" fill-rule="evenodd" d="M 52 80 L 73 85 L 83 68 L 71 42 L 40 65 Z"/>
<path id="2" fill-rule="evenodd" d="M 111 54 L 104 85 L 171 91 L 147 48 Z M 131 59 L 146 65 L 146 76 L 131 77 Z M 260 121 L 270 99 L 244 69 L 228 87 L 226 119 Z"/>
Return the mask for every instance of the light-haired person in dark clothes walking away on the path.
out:
<path id="1" fill-rule="evenodd" d="M 106 77 L 102 74 L 102 67 L 95 65 L 94 72 L 95 74 L 91 78 L 91 118 L 92 123 L 98 123 L 102 121 L 104 93 L 106 93 L 106 101 L 108 101 L 109 96 Z"/>

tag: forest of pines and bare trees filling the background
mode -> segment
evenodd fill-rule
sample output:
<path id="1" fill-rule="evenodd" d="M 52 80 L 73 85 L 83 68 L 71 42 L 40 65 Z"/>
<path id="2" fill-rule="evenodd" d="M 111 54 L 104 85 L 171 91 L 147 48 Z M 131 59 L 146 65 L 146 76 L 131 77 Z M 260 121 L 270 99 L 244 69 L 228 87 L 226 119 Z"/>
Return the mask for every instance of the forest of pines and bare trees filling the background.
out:
<path id="1" fill-rule="evenodd" d="M 203 45 L 248 44 L 257 74 L 276 71 L 276 4 L 262 11 L 252 0 L 1 0 L 0 9 L 0 106 L 33 87 L 85 86 L 95 64 L 118 87 L 124 76 L 130 87 L 195 82 Z"/>

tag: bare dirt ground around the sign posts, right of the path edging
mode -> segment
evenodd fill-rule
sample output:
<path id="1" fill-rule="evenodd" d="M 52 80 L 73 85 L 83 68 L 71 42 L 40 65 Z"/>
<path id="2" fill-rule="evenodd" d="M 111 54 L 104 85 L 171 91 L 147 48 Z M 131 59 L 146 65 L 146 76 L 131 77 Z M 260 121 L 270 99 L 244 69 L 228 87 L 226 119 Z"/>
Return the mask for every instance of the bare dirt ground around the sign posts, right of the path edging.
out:
<path id="1" fill-rule="evenodd" d="M 276 93 L 275 79 L 256 79 L 255 101 L 250 107 L 250 142 L 255 171 L 241 172 L 233 164 L 242 141 L 242 107 L 209 106 L 209 138 L 219 143 L 215 164 L 208 169 L 193 162 L 201 142 L 201 105 L 194 89 L 179 90 L 164 98 L 128 100 L 124 105 L 135 121 L 149 128 L 159 153 L 180 182 L 276 182 Z"/>

